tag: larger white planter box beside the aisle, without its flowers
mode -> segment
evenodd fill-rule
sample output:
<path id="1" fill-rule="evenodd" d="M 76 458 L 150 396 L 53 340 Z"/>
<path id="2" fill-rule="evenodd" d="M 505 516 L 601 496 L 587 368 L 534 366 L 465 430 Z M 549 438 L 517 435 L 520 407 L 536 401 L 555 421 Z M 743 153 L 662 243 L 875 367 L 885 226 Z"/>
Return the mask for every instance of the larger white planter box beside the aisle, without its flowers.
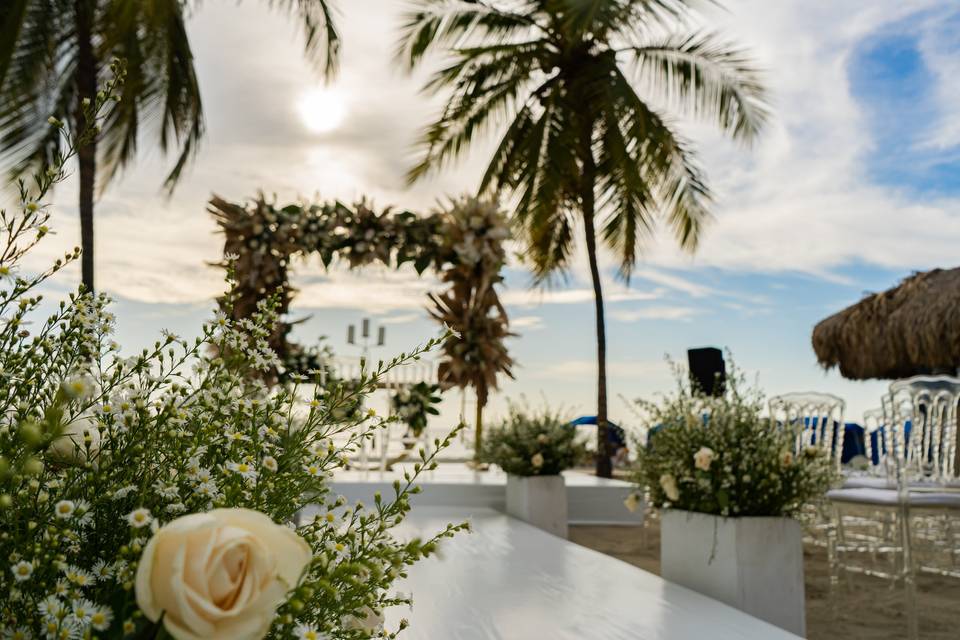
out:
<path id="1" fill-rule="evenodd" d="M 661 527 L 663 578 L 806 636 L 799 522 L 667 509 Z"/>

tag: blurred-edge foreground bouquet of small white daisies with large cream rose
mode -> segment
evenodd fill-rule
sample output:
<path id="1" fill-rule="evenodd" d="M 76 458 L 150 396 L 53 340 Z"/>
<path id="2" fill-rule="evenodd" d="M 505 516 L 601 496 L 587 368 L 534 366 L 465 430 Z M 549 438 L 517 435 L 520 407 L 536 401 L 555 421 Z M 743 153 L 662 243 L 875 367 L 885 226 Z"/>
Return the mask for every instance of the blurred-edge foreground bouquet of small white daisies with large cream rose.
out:
<path id="1" fill-rule="evenodd" d="M 79 256 L 21 266 L 49 232 L 42 198 L 83 142 L 61 134 L 57 163 L 0 211 L 0 636 L 388 637 L 384 609 L 409 602 L 394 581 L 461 526 L 391 535 L 415 474 L 369 508 L 331 496 L 333 470 L 388 424 L 335 416 L 439 341 L 350 389 L 319 377 L 270 389 L 255 374 L 277 362 L 276 298 L 131 357 L 103 295 L 71 295 L 44 319 L 35 291 Z"/>

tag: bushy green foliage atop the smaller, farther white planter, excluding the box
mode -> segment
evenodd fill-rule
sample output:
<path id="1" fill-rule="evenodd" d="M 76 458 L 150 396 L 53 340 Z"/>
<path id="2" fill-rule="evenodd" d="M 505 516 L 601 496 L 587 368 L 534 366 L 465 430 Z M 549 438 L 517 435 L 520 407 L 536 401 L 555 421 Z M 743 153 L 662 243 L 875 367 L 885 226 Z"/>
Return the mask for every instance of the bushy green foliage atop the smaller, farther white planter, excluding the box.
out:
<path id="1" fill-rule="evenodd" d="M 518 476 L 549 476 L 584 456 L 577 430 L 559 413 L 511 406 L 506 419 L 486 436 L 481 460 Z"/>

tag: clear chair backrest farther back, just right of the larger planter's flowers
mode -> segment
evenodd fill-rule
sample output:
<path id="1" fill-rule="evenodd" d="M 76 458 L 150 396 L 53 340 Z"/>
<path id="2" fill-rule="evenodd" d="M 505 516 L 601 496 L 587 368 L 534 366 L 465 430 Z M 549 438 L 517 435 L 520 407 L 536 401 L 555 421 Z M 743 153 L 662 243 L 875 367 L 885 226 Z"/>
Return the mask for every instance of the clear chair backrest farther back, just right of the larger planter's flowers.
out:
<path id="1" fill-rule="evenodd" d="M 830 393 L 785 393 L 770 398 L 770 420 L 774 427 L 796 430 L 796 453 L 807 446 L 820 447 L 840 468 L 843 455 L 843 398 Z"/>

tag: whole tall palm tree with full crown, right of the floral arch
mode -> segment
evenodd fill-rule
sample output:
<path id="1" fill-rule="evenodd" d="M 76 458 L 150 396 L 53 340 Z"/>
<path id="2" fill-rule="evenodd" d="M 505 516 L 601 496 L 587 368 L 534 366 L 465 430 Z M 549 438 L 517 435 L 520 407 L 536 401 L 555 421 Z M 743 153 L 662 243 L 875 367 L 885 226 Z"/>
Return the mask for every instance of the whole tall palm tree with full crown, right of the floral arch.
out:
<path id="1" fill-rule="evenodd" d="M 450 91 L 424 132 L 415 181 L 505 120 L 480 191 L 513 198 L 537 283 L 565 272 L 583 226 L 596 298 L 597 473 L 607 446 L 606 337 L 598 240 L 629 279 L 659 219 L 696 248 L 711 194 L 666 111 L 753 141 L 767 117 L 748 56 L 718 36 L 678 28 L 692 0 L 417 0 L 400 55 L 411 69 L 439 47 L 425 89 Z M 599 238 L 598 238 L 599 231 Z"/>

